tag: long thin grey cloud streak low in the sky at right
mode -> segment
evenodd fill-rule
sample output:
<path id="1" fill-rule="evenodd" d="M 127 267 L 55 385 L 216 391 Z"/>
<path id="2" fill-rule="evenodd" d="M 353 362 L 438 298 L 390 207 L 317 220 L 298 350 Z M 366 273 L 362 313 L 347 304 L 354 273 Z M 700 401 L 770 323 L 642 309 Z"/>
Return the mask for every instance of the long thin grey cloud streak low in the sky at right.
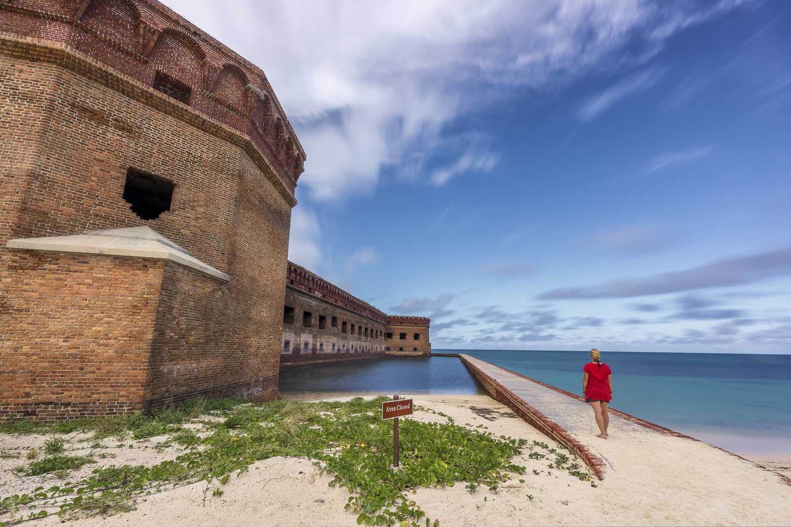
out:
<path id="1" fill-rule="evenodd" d="M 649 277 L 615 280 L 580 288 L 560 288 L 539 295 L 541 299 L 599 299 L 663 295 L 740 284 L 791 274 L 791 247 L 729 258 L 700 267 Z"/>

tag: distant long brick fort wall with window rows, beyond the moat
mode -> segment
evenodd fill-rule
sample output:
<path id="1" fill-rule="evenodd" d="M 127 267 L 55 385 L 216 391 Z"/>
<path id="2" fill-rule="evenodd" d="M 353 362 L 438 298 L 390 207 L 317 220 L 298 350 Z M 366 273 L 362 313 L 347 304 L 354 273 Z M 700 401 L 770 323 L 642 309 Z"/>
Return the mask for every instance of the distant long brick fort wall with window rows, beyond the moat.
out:
<path id="1" fill-rule="evenodd" d="M 429 324 L 425 317 L 388 316 L 289 262 L 281 369 L 382 356 L 429 355 Z"/>

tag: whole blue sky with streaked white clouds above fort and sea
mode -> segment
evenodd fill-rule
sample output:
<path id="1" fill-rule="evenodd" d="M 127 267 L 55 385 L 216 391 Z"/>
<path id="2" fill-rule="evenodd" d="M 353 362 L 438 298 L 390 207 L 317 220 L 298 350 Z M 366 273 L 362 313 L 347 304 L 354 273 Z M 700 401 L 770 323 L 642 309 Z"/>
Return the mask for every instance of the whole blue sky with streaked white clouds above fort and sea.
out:
<path id="1" fill-rule="evenodd" d="M 290 258 L 434 348 L 791 352 L 786 2 L 187 2 L 308 155 Z"/>

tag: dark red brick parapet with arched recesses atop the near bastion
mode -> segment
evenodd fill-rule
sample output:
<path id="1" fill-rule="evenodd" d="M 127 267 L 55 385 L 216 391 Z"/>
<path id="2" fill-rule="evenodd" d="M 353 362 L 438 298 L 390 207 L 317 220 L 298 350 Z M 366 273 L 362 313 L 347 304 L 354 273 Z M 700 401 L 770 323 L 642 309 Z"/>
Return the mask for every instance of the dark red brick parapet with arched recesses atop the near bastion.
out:
<path id="1" fill-rule="evenodd" d="M 189 107 L 249 137 L 293 194 L 305 151 L 263 71 L 160 2 L 0 0 L 0 11 L 9 36 L 79 51 L 146 87 L 157 72 L 188 85 Z"/>

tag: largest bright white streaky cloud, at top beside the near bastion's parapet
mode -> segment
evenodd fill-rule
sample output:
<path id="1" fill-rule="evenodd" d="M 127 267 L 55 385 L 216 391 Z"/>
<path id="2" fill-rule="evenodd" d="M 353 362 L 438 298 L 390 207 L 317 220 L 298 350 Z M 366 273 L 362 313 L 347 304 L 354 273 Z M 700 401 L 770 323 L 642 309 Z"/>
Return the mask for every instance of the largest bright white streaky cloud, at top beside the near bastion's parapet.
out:
<path id="1" fill-rule="evenodd" d="M 619 0 L 165 2 L 261 66 L 305 147 L 300 184 L 316 201 L 369 193 L 383 168 L 431 159 L 437 141 L 458 135 L 446 125 L 485 109 L 501 88 L 554 89 L 594 68 L 628 69 L 645 61 L 645 48 L 716 14 Z M 446 183 L 471 147 L 445 152 L 460 165 L 433 175 L 418 162 L 415 179 Z"/>

